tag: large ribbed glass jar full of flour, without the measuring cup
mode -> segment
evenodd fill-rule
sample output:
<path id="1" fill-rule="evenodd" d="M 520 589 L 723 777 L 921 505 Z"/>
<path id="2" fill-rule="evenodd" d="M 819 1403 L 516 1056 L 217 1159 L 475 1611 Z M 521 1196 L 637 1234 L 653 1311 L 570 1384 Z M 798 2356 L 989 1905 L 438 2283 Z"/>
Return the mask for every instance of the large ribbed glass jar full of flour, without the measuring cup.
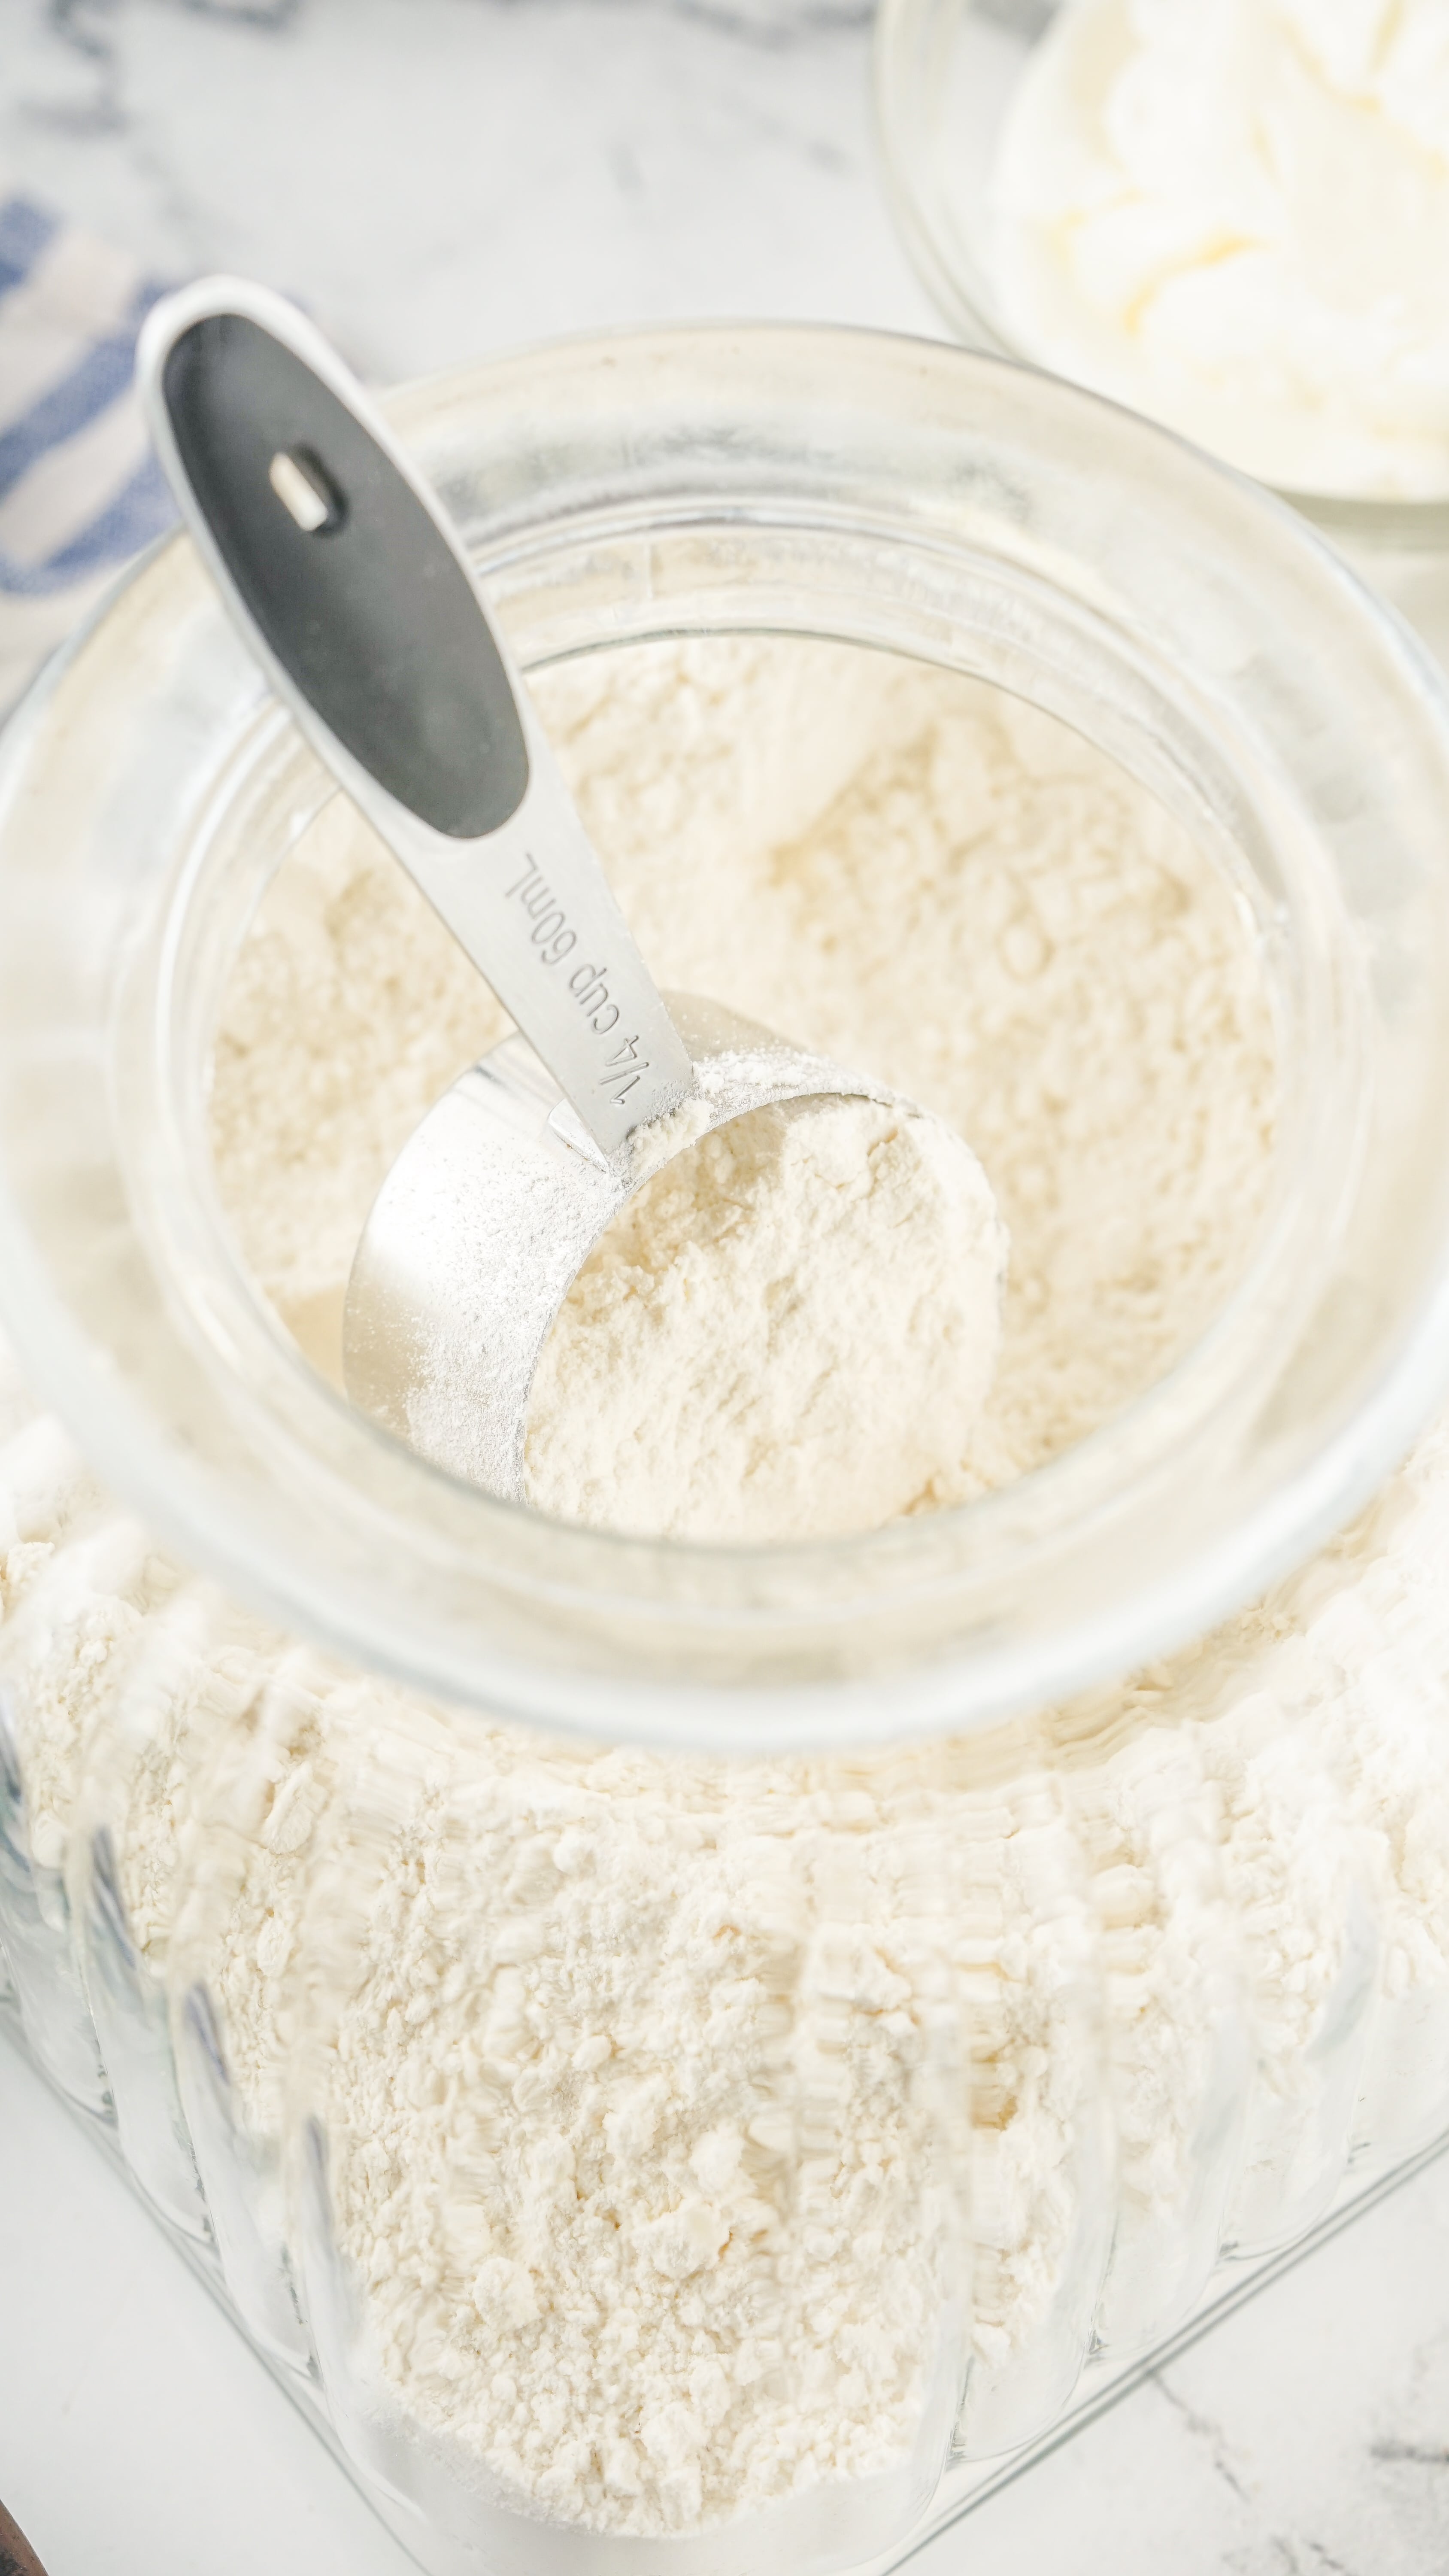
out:
<path id="1" fill-rule="evenodd" d="M 502 1020 L 162 549 L 5 744 L 0 1942 L 425 2566 L 885 2566 L 1449 2117 L 1449 716 L 991 361 L 394 417 L 656 971 L 981 1154 L 996 1386 L 767 1548 L 610 1528 L 569 1352 L 540 1510 L 350 1412 Z"/>

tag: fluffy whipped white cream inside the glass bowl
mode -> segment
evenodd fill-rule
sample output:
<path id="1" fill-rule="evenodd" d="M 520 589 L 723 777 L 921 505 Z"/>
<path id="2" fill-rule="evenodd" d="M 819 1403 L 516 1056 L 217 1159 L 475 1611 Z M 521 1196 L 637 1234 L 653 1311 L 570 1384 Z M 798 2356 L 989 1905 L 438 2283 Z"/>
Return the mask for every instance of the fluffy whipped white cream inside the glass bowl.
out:
<path id="1" fill-rule="evenodd" d="M 1066 0 L 993 216 L 1042 366 L 1279 487 L 1449 492 L 1444 0 Z"/>

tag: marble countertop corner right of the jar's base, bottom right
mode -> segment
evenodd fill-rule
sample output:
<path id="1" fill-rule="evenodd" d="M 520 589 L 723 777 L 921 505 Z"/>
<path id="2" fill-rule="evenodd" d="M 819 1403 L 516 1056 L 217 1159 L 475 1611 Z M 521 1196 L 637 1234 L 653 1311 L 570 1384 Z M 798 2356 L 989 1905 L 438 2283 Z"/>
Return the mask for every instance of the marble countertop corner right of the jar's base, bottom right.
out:
<path id="1" fill-rule="evenodd" d="M 921 2566 L 921 2563 L 919 2563 Z M 947 2576 L 924 2561 L 924 2576 Z M 1449 2161 L 963 2527 L 963 2576 L 1441 2576 Z"/>

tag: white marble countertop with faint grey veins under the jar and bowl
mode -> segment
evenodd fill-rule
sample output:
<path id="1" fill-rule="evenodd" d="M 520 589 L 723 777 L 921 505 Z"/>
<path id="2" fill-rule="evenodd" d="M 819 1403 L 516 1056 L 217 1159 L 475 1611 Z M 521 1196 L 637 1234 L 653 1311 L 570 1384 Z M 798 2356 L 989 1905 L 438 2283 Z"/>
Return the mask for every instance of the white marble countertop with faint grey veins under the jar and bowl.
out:
<path id="1" fill-rule="evenodd" d="M 867 0 L 0 0 L 0 191 L 299 294 L 373 379 L 620 322 L 934 332 Z M 409 2561 L 0 2040 L 0 2496 L 49 2576 Z M 1444 2576 L 1449 2161 L 911 2561 Z"/>

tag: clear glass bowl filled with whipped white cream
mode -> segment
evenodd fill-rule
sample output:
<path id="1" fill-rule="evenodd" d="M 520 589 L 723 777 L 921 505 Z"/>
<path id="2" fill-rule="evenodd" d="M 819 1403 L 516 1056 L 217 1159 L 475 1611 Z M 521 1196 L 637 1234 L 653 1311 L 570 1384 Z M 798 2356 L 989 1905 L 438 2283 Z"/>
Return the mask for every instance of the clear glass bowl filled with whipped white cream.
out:
<path id="1" fill-rule="evenodd" d="M 1449 652 L 1449 240 L 1426 0 L 885 0 L 875 93 L 947 322 L 1287 492 Z"/>

